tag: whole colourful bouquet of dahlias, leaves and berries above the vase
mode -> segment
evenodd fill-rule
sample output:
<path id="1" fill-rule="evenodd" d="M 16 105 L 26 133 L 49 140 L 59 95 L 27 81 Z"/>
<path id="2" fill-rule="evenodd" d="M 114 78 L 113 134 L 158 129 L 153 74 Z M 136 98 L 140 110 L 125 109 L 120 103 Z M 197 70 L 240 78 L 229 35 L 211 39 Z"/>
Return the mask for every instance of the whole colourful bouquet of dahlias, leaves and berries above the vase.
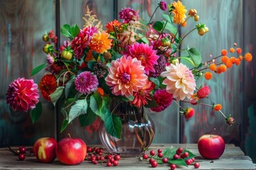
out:
<path id="1" fill-rule="evenodd" d="M 39 87 L 43 98 L 54 105 L 60 102 L 60 111 L 65 115 L 61 131 L 75 118 L 81 125 L 90 125 L 100 117 L 107 132 L 120 137 L 121 120 L 109 108 L 112 100 L 154 112 L 164 111 L 172 101 L 196 105 L 210 94 L 210 88 L 197 84 L 196 79 L 211 79 L 213 74 L 226 72 L 243 59 L 252 60 L 250 53 L 242 56 L 241 48 L 234 44 L 230 50 L 222 50 L 217 57 L 203 62 L 196 48 L 180 47 L 189 33 L 208 33 L 206 25 L 197 23 L 183 37 L 178 34 L 188 21 L 199 20 L 196 9 L 187 10 L 181 1 L 169 5 L 160 1 L 158 8 L 164 11 L 161 21 L 151 17 L 146 22 L 139 11 L 123 8 L 119 12 L 121 22 L 110 21 L 105 27 L 87 8 L 83 28 L 76 24 L 61 28 L 60 33 L 69 40 L 58 48 L 53 31 L 46 33 L 43 51 L 47 62 L 34 68 L 31 76 L 45 67 L 46 74 L 38 85 L 33 79 L 14 80 L 6 93 L 7 103 L 17 111 L 30 110 L 35 122 L 42 110 Z M 187 55 L 178 56 L 181 50 Z M 230 53 L 238 57 L 228 57 Z M 231 115 L 225 116 L 221 111 L 220 104 L 210 106 L 222 113 L 229 125 L 234 123 Z M 181 108 L 181 113 L 191 118 L 194 110 Z"/>

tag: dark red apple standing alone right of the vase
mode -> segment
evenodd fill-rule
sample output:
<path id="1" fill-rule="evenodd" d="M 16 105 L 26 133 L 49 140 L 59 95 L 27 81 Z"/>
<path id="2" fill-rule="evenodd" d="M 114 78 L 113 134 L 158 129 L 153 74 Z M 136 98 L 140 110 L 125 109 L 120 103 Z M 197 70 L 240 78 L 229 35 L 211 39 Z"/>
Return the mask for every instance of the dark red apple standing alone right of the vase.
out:
<path id="1" fill-rule="evenodd" d="M 198 151 L 206 159 L 218 159 L 225 150 L 225 142 L 219 135 L 203 135 L 198 140 Z"/>

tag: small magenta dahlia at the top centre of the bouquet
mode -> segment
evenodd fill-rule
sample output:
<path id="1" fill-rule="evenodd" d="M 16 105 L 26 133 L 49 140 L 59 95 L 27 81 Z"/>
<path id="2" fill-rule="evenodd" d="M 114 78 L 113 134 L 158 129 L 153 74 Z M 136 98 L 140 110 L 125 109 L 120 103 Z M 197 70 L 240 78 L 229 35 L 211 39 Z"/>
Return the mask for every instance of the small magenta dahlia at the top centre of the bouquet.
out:
<path id="1" fill-rule="evenodd" d="M 123 19 L 123 23 L 129 23 L 129 21 L 137 21 L 139 19 L 139 14 L 132 8 L 123 8 L 119 12 L 119 18 Z"/>

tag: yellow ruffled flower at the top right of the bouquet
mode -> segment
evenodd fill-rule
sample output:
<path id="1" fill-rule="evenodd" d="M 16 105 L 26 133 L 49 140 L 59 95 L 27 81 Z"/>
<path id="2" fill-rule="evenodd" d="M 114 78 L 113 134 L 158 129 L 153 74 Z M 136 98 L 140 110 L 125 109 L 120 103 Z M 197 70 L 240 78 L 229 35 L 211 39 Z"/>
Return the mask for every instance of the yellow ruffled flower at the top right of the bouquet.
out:
<path id="1" fill-rule="evenodd" d="M 181 1 L 173 2 L 172 4 L 174 6 L 174 10 L 172 13 L 174 13 L 174 23 L 176 24 L 182 24 L 185 21 L 186 18 L 186 8 L 183 6 Z"/>

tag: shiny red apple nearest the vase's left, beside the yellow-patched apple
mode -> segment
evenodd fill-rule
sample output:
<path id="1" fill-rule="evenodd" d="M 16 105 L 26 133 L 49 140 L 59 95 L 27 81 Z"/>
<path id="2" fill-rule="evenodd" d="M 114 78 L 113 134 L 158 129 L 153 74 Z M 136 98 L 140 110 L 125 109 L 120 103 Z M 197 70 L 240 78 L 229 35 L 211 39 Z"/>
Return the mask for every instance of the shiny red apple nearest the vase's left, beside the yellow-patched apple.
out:
<path id="1" fill-rule="evenodd" d="M 79 138 L 66 137 L 58 142 L 56 147 L 57 158 L 63 164 L 75 165 L 85 160 L 87 147 Z"/>

